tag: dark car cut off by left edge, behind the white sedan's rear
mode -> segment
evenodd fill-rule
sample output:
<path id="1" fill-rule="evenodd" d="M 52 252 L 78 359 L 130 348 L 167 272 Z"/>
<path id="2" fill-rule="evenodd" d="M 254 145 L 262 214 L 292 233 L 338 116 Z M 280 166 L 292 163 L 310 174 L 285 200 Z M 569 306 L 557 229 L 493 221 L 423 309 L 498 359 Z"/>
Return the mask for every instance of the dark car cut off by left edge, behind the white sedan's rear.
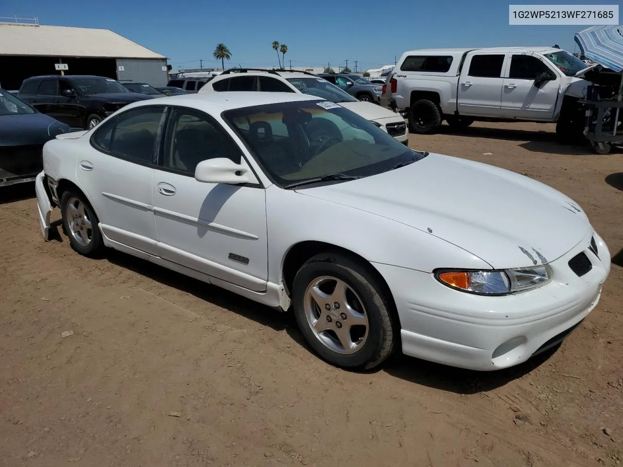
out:
<path id="1" fill-rule="evenodd" d="M 41 149 L 70 128 L 0 89 L 0 186 L 28 182 L 43 170 Z"/>

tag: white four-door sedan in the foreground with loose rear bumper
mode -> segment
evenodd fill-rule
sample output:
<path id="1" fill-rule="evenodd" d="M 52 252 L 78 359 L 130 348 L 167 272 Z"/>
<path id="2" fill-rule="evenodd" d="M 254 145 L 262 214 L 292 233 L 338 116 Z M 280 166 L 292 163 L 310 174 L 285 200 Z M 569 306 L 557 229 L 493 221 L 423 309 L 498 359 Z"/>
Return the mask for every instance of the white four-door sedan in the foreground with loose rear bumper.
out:
<path id="1" fill-rule="evenodd" d="M 293 309 L 336 366 L 409 356 L 476 370 L 526 361 L 596 306 L 610 253 L 583 210 L 497 167 L 406 148 L 295 93 L 130 104 L 43 149 L 47 239 L 144 258 Z"/>

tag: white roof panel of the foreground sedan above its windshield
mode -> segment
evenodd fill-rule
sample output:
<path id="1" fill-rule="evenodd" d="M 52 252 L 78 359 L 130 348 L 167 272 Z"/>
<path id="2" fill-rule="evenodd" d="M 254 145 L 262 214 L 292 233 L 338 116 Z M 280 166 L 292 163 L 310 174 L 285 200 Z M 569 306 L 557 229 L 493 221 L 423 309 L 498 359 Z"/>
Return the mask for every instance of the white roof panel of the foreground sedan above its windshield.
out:
<path id="1" fill-rule="evenodd" d="M 228 91 L 183 94 L 138 101 L 131 106 L 142 105 L 181 105 L 204 111 L 223 111 L 255 105 L 277 104 L 280 102 L 324 100 L 320 97 L 291 92 L 253 92 Z M 129 108 L 130 105 L 124 108 Z"/>

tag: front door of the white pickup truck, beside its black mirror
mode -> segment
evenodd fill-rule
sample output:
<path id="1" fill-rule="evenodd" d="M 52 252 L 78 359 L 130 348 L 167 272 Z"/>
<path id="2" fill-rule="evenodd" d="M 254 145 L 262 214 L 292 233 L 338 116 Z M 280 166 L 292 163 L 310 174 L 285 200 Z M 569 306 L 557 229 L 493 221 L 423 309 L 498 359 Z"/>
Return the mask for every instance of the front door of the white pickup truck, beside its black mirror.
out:
<path id="1" fill-rule="evenodd" d="M 556 77 L 540 87 L 535 78 L 541 73 Z M 560 77 L 553 68 L 531 52 L 511 54 L 502 87 L 502 115 L 526 120 L 551 120 L 556 109 Z"/>

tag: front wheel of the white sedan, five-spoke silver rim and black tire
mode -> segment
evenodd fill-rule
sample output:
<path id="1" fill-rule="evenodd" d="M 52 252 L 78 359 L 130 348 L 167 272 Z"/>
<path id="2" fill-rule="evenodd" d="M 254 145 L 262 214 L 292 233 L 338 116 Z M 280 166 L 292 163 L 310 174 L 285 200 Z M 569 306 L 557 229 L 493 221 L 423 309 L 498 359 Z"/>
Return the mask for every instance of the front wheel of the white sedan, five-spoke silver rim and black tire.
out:
<path id="1" fill-rule="evenodd" d="M 363 263 L 321 253 L 298 270 L 293 309 L 312 349 L 351 370 L 371 369 L 394 351 L 399 324 L 379 280 Z"/>

